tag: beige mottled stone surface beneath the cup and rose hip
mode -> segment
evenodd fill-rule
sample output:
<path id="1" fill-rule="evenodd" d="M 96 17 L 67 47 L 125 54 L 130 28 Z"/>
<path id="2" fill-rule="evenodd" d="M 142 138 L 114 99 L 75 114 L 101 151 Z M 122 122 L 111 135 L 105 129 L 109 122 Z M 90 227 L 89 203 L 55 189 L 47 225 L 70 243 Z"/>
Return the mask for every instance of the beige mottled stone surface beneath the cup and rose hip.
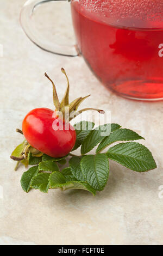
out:
<path id="1" fill-rule="evenodd" d="M 101 85 L 82 57 L 57 56 L 36 47 L 18 21 L 23 3 L 0 1 L 0 44 L 4 52 L 0 57 L 0 244 L 162 245 L 163 198 L 159 198 L 159 187 L 163 185 L 162 102 L 118 97 Z M 67 5 L 65 9 L 58 7 L 56 19 L 50 9 L 49 15 L 42 15 L 55 26 L 68 13 Z M 45 32 L 43 16 L 40 19 L 36 15 L 35 19 L 40 21 L 40 32 Z M 66 24 L 61 31 L 69 35 L 69 23 Z M 46 33 L 45 36 L 52 36 Z M 53 108 L 52 88 L 43 76 L 45 71 L 54 78 L 59 96 L 64 94 L 61 66 L 70 77 L 71 99 L 91 94 L 91 107 L 111 111 L 112 122 L 139 132 L 146 138 L 142 143 L 151 149 L 157 169 L 136 173 L 110 161 L 108 184 L 96 197 L 86 191 L 52 190 L 43 194 L 33 190 L 26 194 L 22 190 L 20 179 L 24 168 L 14 172 L 15 163 L 9 159 L 12 149 L 22 141 L 15 129 L 21 127 L 22 118 L 30 109 Z"/>

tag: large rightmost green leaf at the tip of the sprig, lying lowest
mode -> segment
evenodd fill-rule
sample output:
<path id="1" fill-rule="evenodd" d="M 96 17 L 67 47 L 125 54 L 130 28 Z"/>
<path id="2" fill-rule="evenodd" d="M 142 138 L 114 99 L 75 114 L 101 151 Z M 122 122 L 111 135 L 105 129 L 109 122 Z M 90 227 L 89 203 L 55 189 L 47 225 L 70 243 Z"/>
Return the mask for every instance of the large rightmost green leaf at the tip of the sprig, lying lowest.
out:
<path id="1" fill-rule="evenodd" d="M 137 172 L 146 172 L 156 168 L 156 163 L 149 149 L 136 142 L 117 144 L 110 148 L 106 155 L 109 159 Z"/>

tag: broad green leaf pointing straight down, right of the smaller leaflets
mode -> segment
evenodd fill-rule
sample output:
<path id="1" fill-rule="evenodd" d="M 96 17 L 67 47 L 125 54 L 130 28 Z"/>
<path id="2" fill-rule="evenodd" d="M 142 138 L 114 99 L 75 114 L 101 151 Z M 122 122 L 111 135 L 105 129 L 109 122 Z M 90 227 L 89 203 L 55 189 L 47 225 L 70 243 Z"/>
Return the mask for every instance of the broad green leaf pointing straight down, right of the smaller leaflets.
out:
<path id="1" fill-rule="evenodd" d="M 109 175 L 108 157 L 105 154 L 87 155 L 80 166 L 88 184 L 95 190 L 103 190 Z"/>

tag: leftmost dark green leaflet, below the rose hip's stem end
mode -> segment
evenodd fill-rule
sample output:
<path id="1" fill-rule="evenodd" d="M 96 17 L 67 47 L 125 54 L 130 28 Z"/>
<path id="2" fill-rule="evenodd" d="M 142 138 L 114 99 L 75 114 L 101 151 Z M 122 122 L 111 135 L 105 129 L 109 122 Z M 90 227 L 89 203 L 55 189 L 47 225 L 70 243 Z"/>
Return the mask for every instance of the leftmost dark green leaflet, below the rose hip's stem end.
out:
<path id="1" fill-rule="evenodd" d="M 24 172 L 21 178 L 21 186 L 25 192 L 28 193 L 30 190 L 30 184 L 35 175 L 39 173 L 38 166 L 33 166 L 27 170 L 27 172 Z"/>

